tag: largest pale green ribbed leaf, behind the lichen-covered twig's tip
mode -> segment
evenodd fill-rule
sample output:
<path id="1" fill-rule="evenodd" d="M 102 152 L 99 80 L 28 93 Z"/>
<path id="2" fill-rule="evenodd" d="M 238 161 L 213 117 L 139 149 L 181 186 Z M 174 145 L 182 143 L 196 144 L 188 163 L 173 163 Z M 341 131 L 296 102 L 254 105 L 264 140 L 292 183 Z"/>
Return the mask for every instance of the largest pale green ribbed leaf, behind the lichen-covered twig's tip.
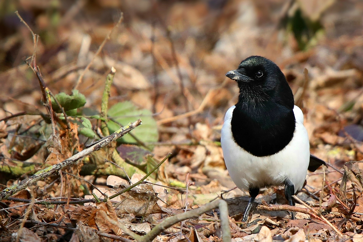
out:
<path id="1" fill-rule="evenodd" d="M 121 125 L 126 125 L 129 122 L 134 122 L 141 118 L 142 125 L 132 130 L 132 134 L 143 142 L 158 141 L 158 128 L 156 121 L 151 116 L 152 113 L 150 110 L 138 109 L 134 104 L 132 104 L 132 102 L 126 101 L 113 105 L 108 110 L 108 114 L 110 118 L 113 118 Z M 107 122 L 107 126 L 110 130 L 110 133 L 113 133 L 120 128 L 120 126 L 113 121 Z M 120 141 L 124 143 L 136 142 L 136 140 L 132 138 L 130 134 L 125 134 L 125 136 L 123 136 Z"/>

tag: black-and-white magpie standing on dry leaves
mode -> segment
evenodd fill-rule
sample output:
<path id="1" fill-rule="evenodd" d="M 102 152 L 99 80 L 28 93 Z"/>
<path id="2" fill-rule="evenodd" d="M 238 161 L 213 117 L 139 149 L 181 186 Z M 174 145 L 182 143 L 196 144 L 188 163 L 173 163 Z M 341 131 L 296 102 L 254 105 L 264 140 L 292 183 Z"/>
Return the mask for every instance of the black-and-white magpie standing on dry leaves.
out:
<path id="1" fill-rule="evenodd" d="M 303 113 L 273 61 L 250 56 L 225 76 L 237 82 L 239 94 L 225 114 L 221 146 L 233 182 L 250 194 L 242 217 L 246 222 L 261 188 L 285 186 L 285 197 L 294 206 L 291 196 L 304 186 L 307 170 L 326 163 L 310 154 Z"/>

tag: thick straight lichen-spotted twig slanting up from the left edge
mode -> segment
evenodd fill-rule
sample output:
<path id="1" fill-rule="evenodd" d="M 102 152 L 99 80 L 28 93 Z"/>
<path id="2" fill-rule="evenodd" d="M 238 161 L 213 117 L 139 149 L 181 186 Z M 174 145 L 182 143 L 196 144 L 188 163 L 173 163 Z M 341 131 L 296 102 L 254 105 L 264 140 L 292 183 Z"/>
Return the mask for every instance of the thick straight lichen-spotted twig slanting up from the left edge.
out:
<path id="1" fill-rule="evenodd" d="M 44 179 L 45 177 L 48 177 L 48 176 L 58 172 L 59 170 L 65 168 L 66 166 L 73 165 L 79 159 L 85 157 L 86 155 L 94 152 L 95 150 L 101 149 L 102 147 L 110 144 L 110 142 L 115 141 L 118 138 L 121 138 L 126 133 L 130 132 L 130 130 L 136 128 L 140 124 L 141 124 L 140 119 L 133 122 L 132 124 L 130 123 L 130 124 L 122 127 L 121 129 L 117 130 L 115 133 L 109 135 L 101 142 L 97 142 L 95 145 L 82 150 L 81 152 L 75 154 L 74 156 L 64 160 L 63 162 L 55 164 L 53 166 L 49 166 L 48 168 L 45 168 L 43 170 L 40 170 L 37 173 L 35 173 L 33 176 L 30 176 L 29 178 L 24 179 L 23 181 L 15 184 L 7 189 L 4 189 L 3 191 L 0 192 L 0 201 L 3 199 L 7 199 L 8 197 L 12 196 L 13 194 L 17 193 L 20 190 L 25 189 L 25 187 L 27 187 L 28 185 L 30 185 L 32 183 L 34 183 L 36 181 L 40 181 L 40 180 Z"/>

